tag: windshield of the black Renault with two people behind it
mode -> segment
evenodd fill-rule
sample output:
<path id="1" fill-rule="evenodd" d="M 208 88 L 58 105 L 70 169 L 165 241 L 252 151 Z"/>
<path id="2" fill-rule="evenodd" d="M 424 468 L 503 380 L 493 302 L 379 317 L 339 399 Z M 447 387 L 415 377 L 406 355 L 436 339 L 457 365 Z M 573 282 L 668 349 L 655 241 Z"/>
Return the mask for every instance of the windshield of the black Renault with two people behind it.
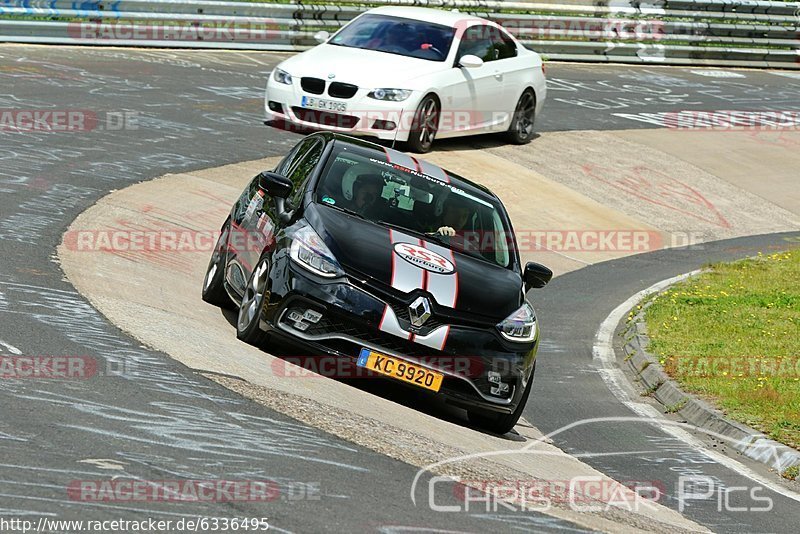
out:
<path id="1" fill-rule="evenodd" d="M 414 166 L 425 170 L 427 164 Z M 442 171 L 431 166 L 429 172 Z M 373 150 L 337 145 L 315 200 L 501 267 L 511 266 L 513 241 L 496 199 L 471 186 L 390 163 Z"/>

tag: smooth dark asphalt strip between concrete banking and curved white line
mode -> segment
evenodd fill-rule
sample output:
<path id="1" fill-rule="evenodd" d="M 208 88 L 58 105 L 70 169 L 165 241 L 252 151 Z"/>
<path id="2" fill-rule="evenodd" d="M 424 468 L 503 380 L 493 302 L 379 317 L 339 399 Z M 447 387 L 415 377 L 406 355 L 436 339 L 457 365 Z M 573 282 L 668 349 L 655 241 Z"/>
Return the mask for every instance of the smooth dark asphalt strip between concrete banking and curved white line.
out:
<path id="1" fill-rule="evenodd" d="M 692 486 L 689 477 L 713 481 L 714 496 L 684 499 L 683 514 L 714 532 L 793 531 L 800 521 L 800 503 L 761 488 L 644 418 L 631 421 L 636 414 L 606 386 L 593 361 L 592 347 L 598 326 L 614 308 L 661 280 L 712 262 L 798 246 L 800 233 L 729 239 L 598 263 L 554 279 L 532 295 L 542 331 L 548 336 L 537 358 L 536 372 L 542 379 L 535 382 L 536 395 L 525 417 L 545 434 L 554 433 L 553 440 L 561 449 L 615 480 L 663 488 L 666 494 L 660 502 L 671 508 L 679 508 L 680 495 L 705 491 L 704 483 Z M 620 421 L 606 419 L 617 417 Z M 582 424 L 562 432 L 566 423 Z M 708 440 L 708 446 L 730 448 L 730 443 Z M 685 477 L 684 488 L 695 489 L 679 492 L 681 477 Z M 753 495 L 769 496 L 773 507 L 757 511 L 766 506 Z"/>

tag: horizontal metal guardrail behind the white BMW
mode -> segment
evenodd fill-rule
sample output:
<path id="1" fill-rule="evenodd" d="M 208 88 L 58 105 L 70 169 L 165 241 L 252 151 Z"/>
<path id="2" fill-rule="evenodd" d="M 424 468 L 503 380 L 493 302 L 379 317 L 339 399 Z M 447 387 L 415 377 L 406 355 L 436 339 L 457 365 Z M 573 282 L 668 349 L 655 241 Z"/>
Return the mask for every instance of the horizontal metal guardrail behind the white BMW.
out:
<path id="1" fill-rule="evenodd" d="M 0 0 L 0 41 L 304 50 L 382 5 L 489 18 L 549 59 L 800 69 L 800 2 L 753 0 Z"/>

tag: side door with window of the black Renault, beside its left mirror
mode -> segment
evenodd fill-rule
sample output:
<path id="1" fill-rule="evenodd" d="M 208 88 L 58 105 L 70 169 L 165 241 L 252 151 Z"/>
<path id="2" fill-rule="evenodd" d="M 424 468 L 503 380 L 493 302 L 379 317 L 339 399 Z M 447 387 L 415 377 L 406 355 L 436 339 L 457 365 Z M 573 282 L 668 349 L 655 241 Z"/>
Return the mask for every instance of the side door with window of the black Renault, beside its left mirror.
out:
<path id="1" fill-rule="evenodd" d="M 295 209 L 301 202 L 306 180 L 316 168 L 325 142 L 319 136 L 309 136 L 300 141 L 294 150 L 275 169 L 279 174 L 289 178 L 294 187 L 287 199 L 287 209 Z M 275 201 L 258 186 L 258 177 L 253 178 L 239 199 L 234 222 L 244 241 L 237 249 L 240 266 L 245 280 L 250 277 L 253 266 L 259 257 L 275 244 L 275 234 L 279 230 Z"/>

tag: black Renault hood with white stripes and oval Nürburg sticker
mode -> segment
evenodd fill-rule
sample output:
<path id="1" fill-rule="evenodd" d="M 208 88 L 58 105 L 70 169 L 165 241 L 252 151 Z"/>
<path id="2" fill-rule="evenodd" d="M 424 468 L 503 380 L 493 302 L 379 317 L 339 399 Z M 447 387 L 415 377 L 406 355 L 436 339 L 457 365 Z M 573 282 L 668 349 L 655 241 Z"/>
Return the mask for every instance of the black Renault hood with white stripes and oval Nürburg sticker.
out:
<path id="1" fill-rule="evenodd" d="M 309 204 L 306 219 L 350 276 L 367 277 L 384 292 L 410 295 L 424 289 L 440 306 L 494 322 L 522 304 L 522 279 L 511 269 L 328 206 Z M 415 265 L 403 259 L 409 257 L 407 249 L 419 251 L 423 257 L 429 251 L 438 263 L 431 265 L 423 259 Z M 452 272 L 447 273 L 451 267 Z"/>

